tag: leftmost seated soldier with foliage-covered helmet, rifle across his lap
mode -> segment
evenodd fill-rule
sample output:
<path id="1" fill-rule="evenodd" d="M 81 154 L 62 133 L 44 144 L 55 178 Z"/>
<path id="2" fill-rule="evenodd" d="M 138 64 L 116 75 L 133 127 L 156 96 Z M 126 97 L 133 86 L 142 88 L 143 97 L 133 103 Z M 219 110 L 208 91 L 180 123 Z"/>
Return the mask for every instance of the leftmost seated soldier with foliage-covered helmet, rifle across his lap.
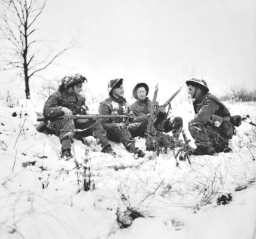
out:
<path id="1" fill-rule="evenodd" d="M 106 138 L 106 131 L 99 122 L 92 119 L 77 119 L 74 121 L 72 115 L 86 115 L 89 110 L 86 99 L 81 96 L 83 82 L 87 79 L 80 75 L 65 76 L 59 90 L 54 92 L 44 105 L 44 117 L 50 118 L 50 127 L 59 136 L 62 144 L 61 158 L 69 160 L 72 158 L 71 144 L 74 136 L 94 136 L 103 147 L 102 152 L 114 152 Z M 63 119 L 54 119 L 64 116 Z M 76 131 L 81 129 L 81 131 Z"/>

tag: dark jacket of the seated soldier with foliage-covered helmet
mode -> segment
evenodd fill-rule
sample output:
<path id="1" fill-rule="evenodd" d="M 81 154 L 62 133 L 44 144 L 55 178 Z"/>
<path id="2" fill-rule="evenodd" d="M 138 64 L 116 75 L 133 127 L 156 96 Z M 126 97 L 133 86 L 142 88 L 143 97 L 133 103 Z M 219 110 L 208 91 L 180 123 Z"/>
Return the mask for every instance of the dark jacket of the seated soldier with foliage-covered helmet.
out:
<path id="1" fill-rule="evenodd" d="M 73 115 L 86 115 L 89 109 L 86 106 L 86 99 L 81 94 L 56 91 L 45 102 L 44 117 L 60 117 L 63 115 L 62 107 L 70 109 Z"/>

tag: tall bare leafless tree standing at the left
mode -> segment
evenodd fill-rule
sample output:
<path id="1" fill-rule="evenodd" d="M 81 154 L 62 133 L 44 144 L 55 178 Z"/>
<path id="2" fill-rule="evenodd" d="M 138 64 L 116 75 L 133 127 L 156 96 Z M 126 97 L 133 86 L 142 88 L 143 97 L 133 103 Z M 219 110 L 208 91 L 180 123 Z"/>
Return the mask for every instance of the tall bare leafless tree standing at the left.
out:
<path id="1" fill-rule="evenodd" d="M 0 19 L 1 40 L 5 41 L 1 47 L 1 62 L 4 67 L 1 71 L 19 69 L 25 80 L 26 98 L 30 98 L 29 79 L 36 73 L 43 71 L 53 61 L 69 50 L 72 45 L 58 53 L 48 53 L 47 56 L 39 56 L 38 42 L 36 39 L 35 22 L 44 10 L 46 0 L 1 0 L 2 12 Z"/>

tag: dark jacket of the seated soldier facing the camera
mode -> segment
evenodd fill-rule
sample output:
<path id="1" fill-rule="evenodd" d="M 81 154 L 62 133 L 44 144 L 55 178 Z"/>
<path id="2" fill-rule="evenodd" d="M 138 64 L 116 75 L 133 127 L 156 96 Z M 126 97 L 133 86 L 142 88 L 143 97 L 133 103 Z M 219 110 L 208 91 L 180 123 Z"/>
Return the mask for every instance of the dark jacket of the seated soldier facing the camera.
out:
<path id="1" fill-rule="evenodd" d="M 147 115 L 150 114 L 152 102 L 148 99 L 148 97 L 145 100 L 136 100 L 136 102 L 132 103 L 130 105 L 130 110 L 135 114 L 136 116 L 140 115 Z M 157 112 L 157 108 L 159 107 L 159 103 L 156 102 L 155 107 L 155 114 Z"/>

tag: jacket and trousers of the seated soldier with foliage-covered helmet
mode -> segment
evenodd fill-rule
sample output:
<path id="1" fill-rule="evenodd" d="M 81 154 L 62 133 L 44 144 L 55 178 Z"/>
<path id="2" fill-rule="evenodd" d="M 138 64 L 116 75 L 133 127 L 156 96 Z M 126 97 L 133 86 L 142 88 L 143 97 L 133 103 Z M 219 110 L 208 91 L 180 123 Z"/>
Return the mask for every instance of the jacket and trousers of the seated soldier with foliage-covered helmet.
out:
<path id="1" fill-rule="evenodd" d="M 95 122 L 92 119 L 54 119 L 63 116 L 62 107 L 70 109 L 73 115 L 86 115 L 88 108 L 85 102 L 86 100 L 81 94 L 56 91 L 51 94 L 44 105 L 44 117 L 50 119 L 50 127 L 59 136 L 62 151 L 71 149 L 75 134 L 80 137 L 94 136 L 99 140 L 103 148 L 109 145 L 106 131 L 99 122 Z M 81 129 L 81 131 L 74 132 L 75 128 Z"/>

